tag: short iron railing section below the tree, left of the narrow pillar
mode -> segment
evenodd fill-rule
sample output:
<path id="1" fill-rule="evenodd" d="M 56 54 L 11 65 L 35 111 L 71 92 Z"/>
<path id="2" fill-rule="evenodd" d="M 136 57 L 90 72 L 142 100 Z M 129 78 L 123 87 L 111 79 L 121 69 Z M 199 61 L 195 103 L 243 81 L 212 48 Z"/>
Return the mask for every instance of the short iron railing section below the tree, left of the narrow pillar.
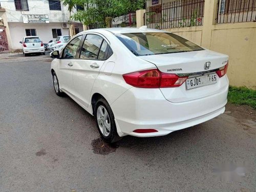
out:
<path id="1" fill-rule="evenodd" d="M 136 12 L 127 13 L 111 19 L 111 27 L 136 27 Z"/>

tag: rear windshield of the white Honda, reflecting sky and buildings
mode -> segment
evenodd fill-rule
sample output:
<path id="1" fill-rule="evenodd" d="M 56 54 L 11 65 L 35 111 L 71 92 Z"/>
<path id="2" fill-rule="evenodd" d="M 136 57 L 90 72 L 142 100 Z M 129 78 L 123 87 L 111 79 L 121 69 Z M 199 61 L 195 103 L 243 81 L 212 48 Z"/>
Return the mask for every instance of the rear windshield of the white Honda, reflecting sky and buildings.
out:
<path id="1" fill-rule="evenodd" d="M 204 50 L 173 33 L 122 33 L 116 37 L 136 56 Z"/>

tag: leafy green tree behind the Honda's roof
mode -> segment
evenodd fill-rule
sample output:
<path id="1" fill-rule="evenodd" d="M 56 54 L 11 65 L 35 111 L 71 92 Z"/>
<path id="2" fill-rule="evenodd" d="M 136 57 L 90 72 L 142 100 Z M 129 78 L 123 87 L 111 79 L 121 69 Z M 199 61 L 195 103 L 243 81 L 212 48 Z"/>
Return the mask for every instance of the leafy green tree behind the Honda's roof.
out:
<path id="1" fill-rule="evenodd" d="M 106 17 L 117 17 L 142 9 L 145 0 L 73 0 L 76 5 L 84 6 L 72 18 L 84 25 L 98 24 L 105 27 Z"/>

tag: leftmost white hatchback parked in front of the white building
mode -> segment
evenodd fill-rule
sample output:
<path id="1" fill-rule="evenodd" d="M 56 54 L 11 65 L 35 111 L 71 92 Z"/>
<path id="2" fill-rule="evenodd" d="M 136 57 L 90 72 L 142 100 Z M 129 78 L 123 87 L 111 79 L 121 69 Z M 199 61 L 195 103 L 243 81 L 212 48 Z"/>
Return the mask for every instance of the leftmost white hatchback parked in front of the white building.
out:
<path id="1" fill-rule="evenodd" d="M 24 56 L 27 56 L 30 53 L 46 54 L 44 44 L 38 36 L 23 37 L 22 41 L 19 41 L 19 43 L 22 44 Z"/>

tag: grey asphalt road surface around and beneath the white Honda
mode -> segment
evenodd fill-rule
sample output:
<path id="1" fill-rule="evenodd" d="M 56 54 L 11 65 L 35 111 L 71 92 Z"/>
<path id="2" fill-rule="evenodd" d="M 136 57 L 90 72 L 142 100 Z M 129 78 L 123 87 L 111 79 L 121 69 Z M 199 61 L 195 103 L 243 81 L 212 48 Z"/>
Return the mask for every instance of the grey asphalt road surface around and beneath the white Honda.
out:
<path id="1" fill-rule="evenodd" d="M 41 57 L 0 63 L 0 191 L 255 191 L 255 111 L 229 105 L 197 126 L 109 146 L 92 116 L 56 96 Z M 221 181 L 222 162 L 244 162 L 245 177 Z"/>

